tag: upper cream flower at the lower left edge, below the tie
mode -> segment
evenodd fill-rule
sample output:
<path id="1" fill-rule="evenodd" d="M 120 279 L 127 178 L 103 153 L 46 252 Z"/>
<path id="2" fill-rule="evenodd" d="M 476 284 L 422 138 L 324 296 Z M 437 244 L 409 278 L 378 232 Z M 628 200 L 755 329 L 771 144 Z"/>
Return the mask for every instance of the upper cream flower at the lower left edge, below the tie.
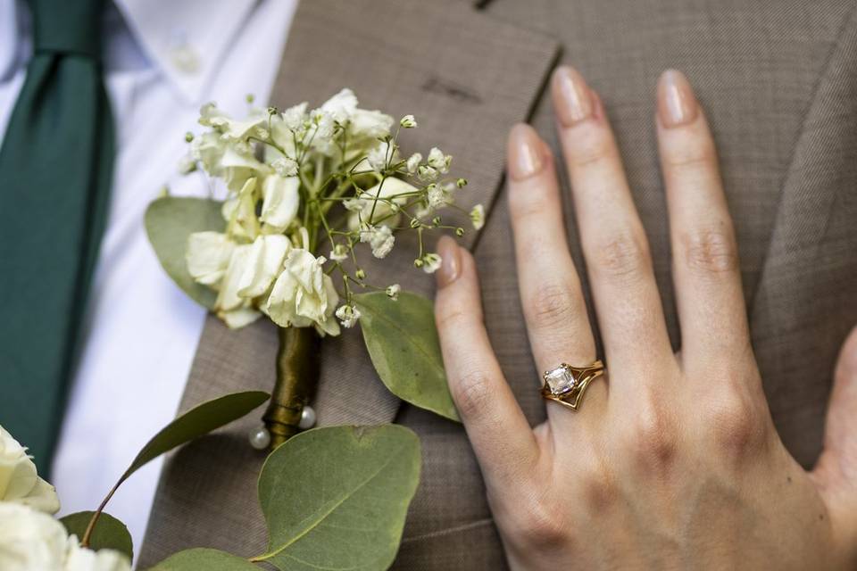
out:
<path id="1" fill-rule="evenodd" d="M 54 486 L 37 476 L 36 464 L 27 455 L 27 449 L 0 426 L 0 502 L 4 501 L 50 514 L 60 509 Z"/>

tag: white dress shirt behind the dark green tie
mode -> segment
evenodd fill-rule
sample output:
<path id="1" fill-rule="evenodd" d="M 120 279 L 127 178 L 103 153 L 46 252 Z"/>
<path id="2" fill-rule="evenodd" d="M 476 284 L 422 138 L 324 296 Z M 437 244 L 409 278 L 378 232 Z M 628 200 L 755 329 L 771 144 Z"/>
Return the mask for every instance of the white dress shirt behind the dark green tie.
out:
<path id="1" fill-rule="evenodd" d="M 178 173 L 187 151 L 184 135 L 200 130 L 202 103 L 216 101 L 241 114 L 245 96 L 254 94 L 266 105 L 295 5 L 296 0 L 114 0 L 105 14 L 106 85 L 117 155 L 87 342 L 54 456 L 60 515 L 96 509 L 141 446 L 175 415 L 204 310 L 161 268 L 146 238 L 144 212 L 165 184 L 172 194 L 208 193 L 202 174 Z M 0 0 L 0 133 L 31 53 L 29 21 L 23 0 Z M 107 508 L 129 526 L 136 548 L 161 467 L 162 460 L 155 460 L 131 476 Z"/>

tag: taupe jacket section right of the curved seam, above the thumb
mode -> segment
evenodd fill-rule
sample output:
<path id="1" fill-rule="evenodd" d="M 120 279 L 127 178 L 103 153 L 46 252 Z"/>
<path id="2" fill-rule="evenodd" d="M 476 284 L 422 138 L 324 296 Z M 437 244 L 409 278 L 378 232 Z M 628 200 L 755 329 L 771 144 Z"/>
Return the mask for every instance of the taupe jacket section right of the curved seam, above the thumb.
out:
<path id="1" fill-rule="evenodd" d="M 841 73 L 857 49 L 855 21 L 852 10 L 803 121 L 751 310 L 771 414 L 807 468 L 821 449 L 836 355 L 857 321 L 857 297 L 845 286 L 857 276 L 857 116 L 853 83 Z"/>

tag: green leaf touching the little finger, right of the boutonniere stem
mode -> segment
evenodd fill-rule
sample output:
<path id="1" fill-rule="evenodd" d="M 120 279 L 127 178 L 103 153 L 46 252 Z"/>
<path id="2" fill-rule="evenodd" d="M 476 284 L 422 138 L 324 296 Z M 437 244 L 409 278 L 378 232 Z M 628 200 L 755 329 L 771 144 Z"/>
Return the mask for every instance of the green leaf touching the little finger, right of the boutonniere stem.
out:
<path id="1" fill-rule="evenodd" d="M 363 339 L 381 381 L 403 401 L 459 420 L 446 385 L 431 300 L 402 292 L 397 300 L 384 292 L 359 294 Z"/>

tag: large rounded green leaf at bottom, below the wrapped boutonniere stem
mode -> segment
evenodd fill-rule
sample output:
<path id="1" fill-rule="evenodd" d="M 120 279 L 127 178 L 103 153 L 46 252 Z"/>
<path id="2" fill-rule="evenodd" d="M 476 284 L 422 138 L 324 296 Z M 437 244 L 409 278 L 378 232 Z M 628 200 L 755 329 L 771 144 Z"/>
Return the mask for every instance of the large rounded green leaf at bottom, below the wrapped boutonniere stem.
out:
<path id="1" fill-rule="evenodd" d="M 328 426 L 293 436 L 259 476 L 268 552 L 288 571 L 380 571 L 395 559 L 420 481 L 420 439 L 404 426 Z"/>

